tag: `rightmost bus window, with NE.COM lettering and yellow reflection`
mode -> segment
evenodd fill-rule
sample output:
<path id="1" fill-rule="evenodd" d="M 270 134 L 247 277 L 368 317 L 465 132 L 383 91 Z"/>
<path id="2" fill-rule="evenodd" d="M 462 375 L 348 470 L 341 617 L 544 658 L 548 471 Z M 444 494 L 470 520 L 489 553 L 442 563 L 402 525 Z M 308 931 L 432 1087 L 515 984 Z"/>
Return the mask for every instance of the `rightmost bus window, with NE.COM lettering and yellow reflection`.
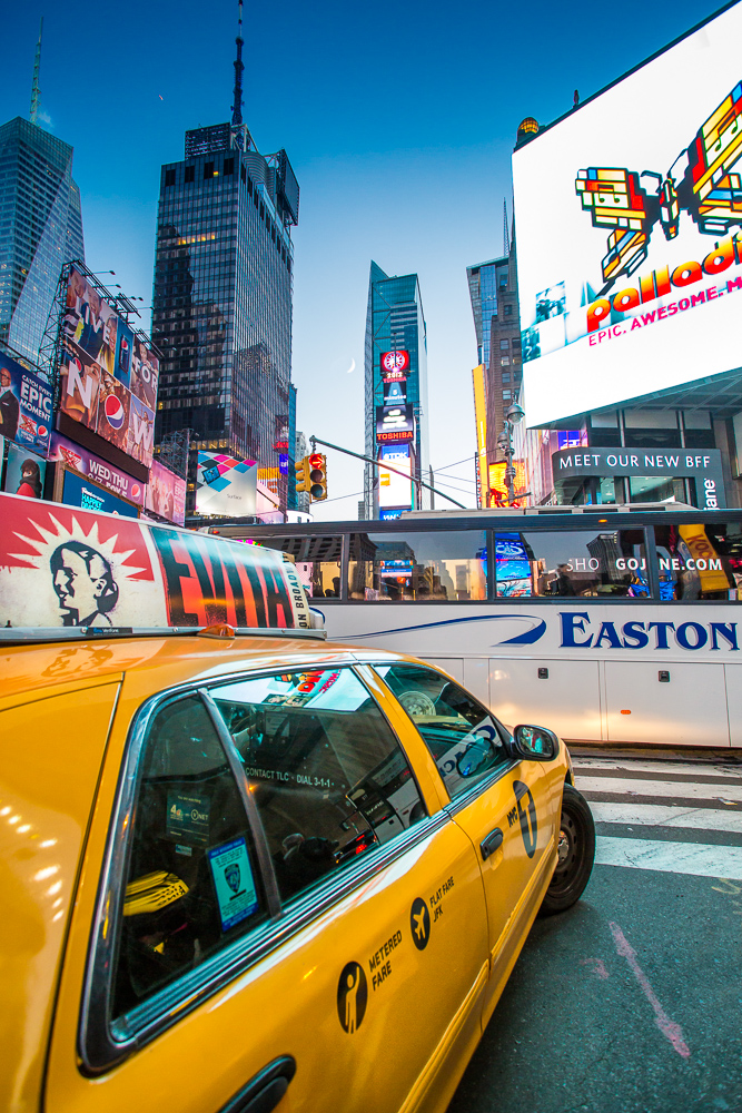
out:
<path id="1" fill-rule="evenodd" d="M 655 525 L 660 598 L 739 600 L 742 523 Z"/>

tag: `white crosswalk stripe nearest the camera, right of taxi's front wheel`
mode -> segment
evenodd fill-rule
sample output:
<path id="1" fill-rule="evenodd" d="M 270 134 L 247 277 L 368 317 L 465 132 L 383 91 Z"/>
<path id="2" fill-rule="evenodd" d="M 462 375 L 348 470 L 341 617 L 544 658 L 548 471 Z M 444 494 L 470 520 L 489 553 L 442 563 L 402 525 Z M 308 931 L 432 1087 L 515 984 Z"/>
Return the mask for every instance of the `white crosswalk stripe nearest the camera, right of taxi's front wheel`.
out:
<path id="1" fill-rule="evenodd" d="M 643 838 L 598 835 L 596 866 L 629 866 L 695 877 L 729 877 L 742 880 L 742 847 L 706 846 L 703 843 L 670 843 Z"/>

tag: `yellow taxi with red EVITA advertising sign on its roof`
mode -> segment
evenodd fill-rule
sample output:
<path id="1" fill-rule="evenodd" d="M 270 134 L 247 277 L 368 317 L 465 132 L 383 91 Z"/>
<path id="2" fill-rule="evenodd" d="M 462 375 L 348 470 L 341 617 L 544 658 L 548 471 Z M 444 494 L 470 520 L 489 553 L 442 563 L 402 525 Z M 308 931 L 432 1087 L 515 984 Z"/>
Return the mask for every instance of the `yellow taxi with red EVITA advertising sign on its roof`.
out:
<path id="1" fill-rule="evenodd" d="M 444 1111 L 590 876 L 563 743 L 278 554 L 0 501 L 0 1106 Z"/>

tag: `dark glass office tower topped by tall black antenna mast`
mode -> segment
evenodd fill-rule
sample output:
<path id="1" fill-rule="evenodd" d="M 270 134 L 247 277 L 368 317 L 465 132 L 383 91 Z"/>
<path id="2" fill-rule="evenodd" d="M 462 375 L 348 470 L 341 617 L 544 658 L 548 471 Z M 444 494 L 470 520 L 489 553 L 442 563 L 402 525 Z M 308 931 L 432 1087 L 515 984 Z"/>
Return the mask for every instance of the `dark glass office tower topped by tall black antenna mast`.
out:
<path id="1" fill-rule="evenodd" d="M 241 47 L 239 33 L 231 122 L 187 131 L 184 160 L 160 177 L 156 441 L 192 430 L 187 514 L 199 449 L 258 461 L 281 506 L 293 502 L 290 229 L 299 187 L 286 151 L 260 155 L 243 122 Z"/>

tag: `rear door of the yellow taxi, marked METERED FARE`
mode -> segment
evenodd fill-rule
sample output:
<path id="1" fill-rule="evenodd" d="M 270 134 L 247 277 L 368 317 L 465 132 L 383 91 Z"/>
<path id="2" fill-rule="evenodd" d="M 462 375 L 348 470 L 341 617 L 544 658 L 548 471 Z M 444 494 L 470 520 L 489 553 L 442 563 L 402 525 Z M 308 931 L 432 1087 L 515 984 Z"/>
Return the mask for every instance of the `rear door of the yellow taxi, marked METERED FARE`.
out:
<path id="1" fill-rule="evenodd" d="M 255 691 L 248 691 L 248 682 L 214 690 L 211 703 L 210 696 L 174 697 L 176 710 L 169 713 L 174 721 L 180 716 L 179 733 L 170 731 L 168 736 L 168 725 L 157 727 L 157 720 L 150 727 L 165 747 L 165 757 L 157 761 L 160 772 L 165 769 L 160 779 L 166 782 L 162 799 L 167 811 L 159 819 L 157 792 L 162 786 L 155 759 L 139 774 L 136 806 L 120 810 L 121 786 L 135 777 L 131 748 L 125 758 L 126 728 L 139 702 L 127 701 L 125 689 L 61 977 L 48 1061 L 48 1109 L 55 1113 L 99 1113 L 101 1109 L 130 1113 L 132 1107 L 138 1113 L 220 1113 L 226 1109 L 268 1113 L 276 1106 L 284 1113 L 445 1110 L 481 1033 L 488 939 L 479 866 L 469 838 L 442 808 L 439 780 L 419 736 L 370 670 L 359 672 L 365 686 L 349 669 L 347 674 L 343 669 L 303 673 L 311 679 L 305 682 L 300 699 L 281 689 L 290 682 L 285 674 L 268 678 L 263 702 Z M 310 686 L 314 689 L 307 695 Z M 162 715 L 169 706 L 164 705 Z M 204 707 L 210 719 L 205 717 Z M 230 736 L 235 746 L 247 739 L 246 760 L 254 764 L 246 769 L 250 791 L 245 807 L 251 823 L 256 814 L 260 820 L 255 830 L 245 826 L 245 814 L 241 828 L 229 826 L 233 812 L 227 796 L 231 789 L 224 770 L 218 770 L 221 781 L 217 786 L 216 766 L 209 766 L 209 754 L 217 752 L 212 727 L 218 727 L 219 716 L 221 732 L 217 733 L 225 751 Z M 344 738 L 342 731 L 354 722 L 359 733 Z M 258 735 L 259 766 L 249 750 Z M 360 814 L 352 812 L 348 804 L 349 818 L 343 818 L 340 797 L 333 796 L 335 778 L 340 776 L 335 759 L 346 772 L 353 761 L 359 765 L 358 747 L 346 745 L 356 737 L 365 739 L 367 749 L 374 738 L 388 742 L 384 761 L 360 778 L 363 791 L 354 780 L 357 768 L 345 791 L 348 800 L 360 801 L 358 807 L 372 817 L 370 835 L 367 830 L 357 834 Z M 170 746 L 177 738 L 195 743 L 198 761 L 192 767 L 184 769 L 185 742 L 180 748 Z M 177 768 L 162 765 L 171 754 L 180 762 Z M 145 758 L 137 760 L 145 761 L 146 751 Z M 235 782 L 239 771 L 239 766 L 233 769 Z M 180 808 L 186 790 L 179 776 L 189 786 L 191 812 Z M 413 785 L 417 786 L 416 799 Z M 257 812 L 251 810 L 253 801 Z M 294 834 L 275 844 L 279 847 L 275 851 L 271 840 L 276 830 L 280 835 L 277 825 L 291 808 L 286 829 Z M 133 833 L 127 836 L 131 816 Z M 296 866 L 289 868 L 297 855 L 300 857 L 304 844 L 298 840 L 304 838 L 307 844 L 304 869 L 307 863 L 320 861 L 328 828 L 309 825 L 327 823 L 330 816 L 339 820 L 338 837 L 346 839 L 332 849 L 337 868 L 291 899 L 290 885 L 307 876 Z M 142 854 L 146 850 L 152 860 L 148 863 L 145 856 L 138 864 L 137 825 L 145 818 L 151 829 L 141 840 Z M 164 829 L 170 825 L 172 837 L 169 843 L 160 839 L 162 846 L 157 841 L 156 821 Z M 311 829 L 325 835 L 309 836 Z M 392 836 L 385 840 L 387 829 Z M 99 995 L 117 963 L 119 971 L 126 964 L 120 949 L 118 957 L 106 949 L 111 937 L 109 914 L 117 907 L 116 887 L 132 876 L 131 870 L 125 877 L 116 871 L 120 837 L 130 837 L 133 843 L 129 858 L 136 880 L 127 885 L 127 893 L 133 895 L 127 897 L 130 922 L 139 913 L 137 902 L 146 895 L 147 878 L 156 887 L 160 885 L 151 881 L 160 874 L 147 870 L 162 866 L 162 858 L 156 861 L 155 856 L 166 847 L 171 854 L 171 865 L 164 867 L 170 870 L 168 894 L 178 890 L 178 883 L 196 893 L 205 873 L 209 881 L 216 881 L 215 863 L 220 869 L 230 856 L 222 873 L 234 893 L 224 884 L 216 888 L 209 884 L 204 888 L 204 902 L 212 902 L 224 928 L 230 923 L 226 909 L 237 900 L 234 908 L 246 917 L 243 924 L 249 925 L 249 916 L 255 916 L 255 927 L 241 936 L 239 925 L 230 927 L 229 932 L 237 933 L 231 944 L 225 938 L 224 949 L 219 949 L 217 940 L 210 952 L 210 937 L 201 935 L 204 965 L 197 965 L 198 956 L 191 957 L 182 977 L 171 979 L 139 1006 L 127 1005 L 126 1015 L 111 1025 L 109 1017 L 117 1014 L 116 996 L 109 993 L 108 1004 L 103 1001 L 99 1007 Z M 365 851 L 364 841 L 369 844 Z M 261 854 L 266 849 L 270 857 L 264 870 Z M 284 851 L 278 868 L 277 857 Z M 198 868 L 196 858 L 200 859 Z M 278 897 L 287 897 L 279 907 L 273 907 L 271 860 L 281 887 Z M 241 877 L 235 874 L 236 866 L 241 868 Z M 168 894 L 162 892 L 157 899 L 170 899 Z M 172 907 L 179 899 L 175 893 Z M 204 904 L 198 916 L 204 920 Z M 187 914 L 171 923 L 178 925 L 171 937 L 165 930 L 156 933 L 154 918 L 138 934 L 136 969 L 140 984 L 150 968 L 142 965 L 145 949 L 150 965 L 161 963 L 170 953 L 177 962 L 192 932 L 202 932 L 192 927 Z M 102 940 L 103 946 L 100 952 L 93 947 L 89 959 L 91 925 L 93 939 Z M 228 930 L 225 928 L 225 935 Z M 96 961 L 96 955 L 102 961 Z M 87 963 L 91 965 L 86 981 Z M 108 1062 L 105 1042 L 100 1042 L 106 1027 L 111 1045 Z M 97 1061 L 91 1062 L 91 1055 L 98 1056 Z"/>

